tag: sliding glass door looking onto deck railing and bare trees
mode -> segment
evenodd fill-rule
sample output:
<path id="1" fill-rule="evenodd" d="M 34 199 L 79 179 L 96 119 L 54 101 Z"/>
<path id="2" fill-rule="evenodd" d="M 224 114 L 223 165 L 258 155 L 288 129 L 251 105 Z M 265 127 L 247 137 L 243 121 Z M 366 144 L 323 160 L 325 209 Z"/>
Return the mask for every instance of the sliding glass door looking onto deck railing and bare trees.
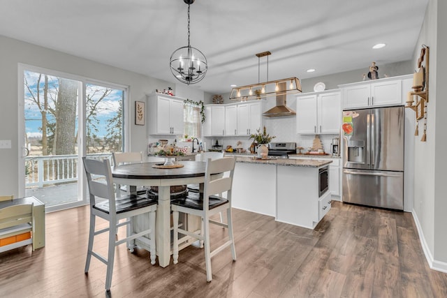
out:
<path id="1" fill-rule="evenodd" d="M 126 89 L 26 66 L 22 78 L 22 195 L 47 211 L 86 204 L 82 156 L 122 151 Z"/>

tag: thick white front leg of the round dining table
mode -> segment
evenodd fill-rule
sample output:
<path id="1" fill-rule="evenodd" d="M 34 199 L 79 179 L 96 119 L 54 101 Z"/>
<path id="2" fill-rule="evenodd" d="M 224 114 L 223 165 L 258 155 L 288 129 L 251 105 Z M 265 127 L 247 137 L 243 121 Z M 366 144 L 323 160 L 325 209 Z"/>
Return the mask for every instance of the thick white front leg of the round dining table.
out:
<path id="1" fill-rule="evenodd" d="M 159 186 L 159 204 L 156 209 L 156 252 L 159 265 L 170 262 L 170 186 Z"/>

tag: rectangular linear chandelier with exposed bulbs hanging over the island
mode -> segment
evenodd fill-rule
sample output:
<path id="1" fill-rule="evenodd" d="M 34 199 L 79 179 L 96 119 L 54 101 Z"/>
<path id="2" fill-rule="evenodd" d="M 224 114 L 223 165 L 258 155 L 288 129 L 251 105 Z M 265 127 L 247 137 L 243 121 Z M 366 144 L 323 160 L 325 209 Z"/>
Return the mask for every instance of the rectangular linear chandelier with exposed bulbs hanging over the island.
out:
<path id="1" fill-rule="evenodd" d="M 249 84 L 231 89 L 230 100 L 247 101 L 252 99 L 267 98 L 269 96 L 281 96 L 297 94 L 301 92 L 300 80 L 297 77 L 288 77 L 281 80 L 268 80 L 268 57 L 271 52 L 256 54 L 258 57 L 258 83 Z M 259 70 L 261 57 L 267 57 L 267 82 L 259 82 Z"/>

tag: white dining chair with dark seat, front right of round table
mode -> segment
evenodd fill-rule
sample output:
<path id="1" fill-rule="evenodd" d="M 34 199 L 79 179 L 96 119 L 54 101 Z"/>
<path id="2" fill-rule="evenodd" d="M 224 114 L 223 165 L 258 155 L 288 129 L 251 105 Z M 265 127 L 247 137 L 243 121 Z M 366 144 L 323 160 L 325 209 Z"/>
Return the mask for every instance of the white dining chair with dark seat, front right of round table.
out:
<path id="1" fill-rule="evenodd" d="M 212 160 L 208 158 L 203 193 L 190 193 L 186 198 L 171 201 L 173 210 L 173 260 L 177 264 L 179 258 L 179 244 L 187 241 L 189 237 L 194 237 L 204 242 L 205 246 L 205 267 L 207 271 L 207 281 L 212 281 L 211 258 L 224 248 L 230 246 L 233 260 L 236 260 L 235 241 L 233 236 L 233 221 L 231 216 L 231 187 L 233 185 L 233 173 L 235 169 L 235 158 L 226 157 Z M 227 198 L 222 198 L 220 193 L 227 193 Z M 226 211 L 227 223 L 213 221 L 210 216 Z M 190 232 L 178 227 L 179 212 L 200 216 L 203 220 L 203 229 L 198 233 Z M 228 229 L 228 240 L 210 251 L 210 223 L 220 225 Z M 179 234 L 189 237 L 179 239 Z M 219 234 L 221 234 L 219 232 Z"/>

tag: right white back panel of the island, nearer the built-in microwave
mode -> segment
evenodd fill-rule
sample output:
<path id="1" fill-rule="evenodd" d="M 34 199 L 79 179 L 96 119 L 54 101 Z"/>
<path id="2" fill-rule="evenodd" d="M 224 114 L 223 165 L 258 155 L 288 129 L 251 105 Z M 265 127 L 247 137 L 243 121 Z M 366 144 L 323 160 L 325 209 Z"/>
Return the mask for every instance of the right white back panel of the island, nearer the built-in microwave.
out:
<path id="1" fill-rule="evenodd" d="M 313 229 L 318 223 L 318 167 L 277 168 L 277 221 Z"/>

